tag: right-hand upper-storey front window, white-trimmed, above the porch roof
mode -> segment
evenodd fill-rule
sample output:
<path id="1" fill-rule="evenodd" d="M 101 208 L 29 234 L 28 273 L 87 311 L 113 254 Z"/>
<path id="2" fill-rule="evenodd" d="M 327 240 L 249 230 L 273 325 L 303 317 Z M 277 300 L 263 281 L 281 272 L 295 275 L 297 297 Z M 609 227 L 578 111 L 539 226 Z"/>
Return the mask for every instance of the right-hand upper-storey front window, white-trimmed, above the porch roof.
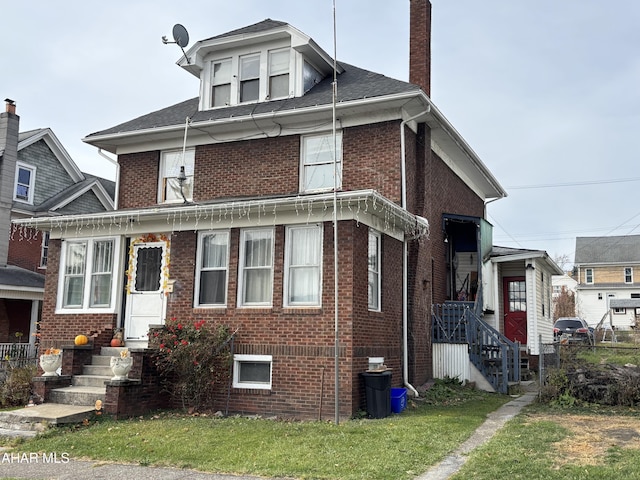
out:
<path id="1" fill-rule="evenodd" d="M 337 189 L 342 188 L 342 132 L 336 132 L 335 144 L 332 132 L 303 136 L 301 157 L 300 189 L 303 192 L 332 190 L 334 164 L 335 185 Z"/>

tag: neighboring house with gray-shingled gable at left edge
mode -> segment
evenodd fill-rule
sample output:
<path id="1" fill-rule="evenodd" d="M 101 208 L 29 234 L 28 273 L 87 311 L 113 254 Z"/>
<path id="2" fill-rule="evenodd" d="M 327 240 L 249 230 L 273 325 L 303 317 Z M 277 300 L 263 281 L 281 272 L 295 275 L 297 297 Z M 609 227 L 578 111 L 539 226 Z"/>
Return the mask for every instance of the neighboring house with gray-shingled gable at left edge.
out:
<path id="1" fill-rule="evenodd" d="M 35 344 L 48 257 L 46 230 L 11 221 L 113 210 L 115 188 L 82 173 L 50 129 L 18 133 L 15 104 L 6 102 L 0 114 L 0 350 Z"/>

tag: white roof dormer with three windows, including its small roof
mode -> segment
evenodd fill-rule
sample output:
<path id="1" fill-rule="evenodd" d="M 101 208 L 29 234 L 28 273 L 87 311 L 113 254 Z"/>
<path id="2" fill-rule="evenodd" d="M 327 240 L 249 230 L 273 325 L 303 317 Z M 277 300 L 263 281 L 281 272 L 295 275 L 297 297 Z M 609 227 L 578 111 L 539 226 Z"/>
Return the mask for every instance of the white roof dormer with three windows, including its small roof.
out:
<path id="1" fill-rule="evenodd" d="M 310 37 L 270 19 L 197 42 L 178 65 L 200 80 L 201 111 L 301 97 L 344 71 Z"/>

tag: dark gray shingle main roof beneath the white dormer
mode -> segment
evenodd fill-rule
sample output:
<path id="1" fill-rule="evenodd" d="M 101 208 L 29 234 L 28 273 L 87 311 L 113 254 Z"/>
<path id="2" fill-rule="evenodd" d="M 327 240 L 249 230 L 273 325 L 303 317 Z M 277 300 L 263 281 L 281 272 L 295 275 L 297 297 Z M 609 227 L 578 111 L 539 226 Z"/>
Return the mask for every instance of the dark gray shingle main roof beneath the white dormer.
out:
<path id="1" fill-rule="evenodd" d="M 420 87 L 401 80 L 386 77 L 352 65 L 341 64 L 344 72 L 338 75 L 337 102 L 348 102 L 364 98 L 381 97 L 407 92 L 417 92 Z M 198 98 L 192 98 L 167 108 L 143 115 L 115 127 L 87 135 L 87 139 L 100 135 L 134 132 L 159 127 L 179 126 L 189 117 L 192 122 L 223 120 L 234 117 L 283 112 L 320 105 L 330 105 L 333 79 L 327 77 L 302 97 L 273 100 L 270 102 L 236 105 L 212 110 L 198 110 Z"/>

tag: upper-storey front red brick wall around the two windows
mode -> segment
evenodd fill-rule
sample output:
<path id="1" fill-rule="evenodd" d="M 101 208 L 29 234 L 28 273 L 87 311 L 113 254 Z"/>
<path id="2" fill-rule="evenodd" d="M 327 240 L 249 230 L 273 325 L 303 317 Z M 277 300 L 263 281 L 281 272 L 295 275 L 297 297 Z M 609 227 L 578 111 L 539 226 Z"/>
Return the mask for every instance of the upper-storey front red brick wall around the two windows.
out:
<path id="1" fill-rule="evenodd" d="M 343 130 L 343 190 L 375 189 L 400 203 L 399 125 L 382 122 Z M 157 204 L 159 159 L 158 151 L 118 157 L 119 208 Z M 193 198 L 297 194 L 299 170 L 298 135 L 198 146 Z"/>

